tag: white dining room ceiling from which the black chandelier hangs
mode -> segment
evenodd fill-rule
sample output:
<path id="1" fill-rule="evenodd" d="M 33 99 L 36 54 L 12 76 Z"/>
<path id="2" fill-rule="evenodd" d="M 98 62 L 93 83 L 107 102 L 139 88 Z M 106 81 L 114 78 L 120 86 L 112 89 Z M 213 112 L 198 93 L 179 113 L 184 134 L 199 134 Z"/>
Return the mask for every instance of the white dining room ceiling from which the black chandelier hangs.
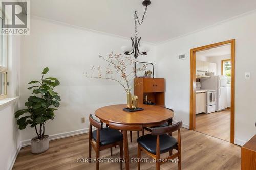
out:
<path id="1" fill-rule="evenodd" d="M 134 35 L 134 11 L 142 0 L 33 0 L 32 16 L 115 34 Z M 152 0 L 138 35 L 159 43 L 256 9 L 255 0 Z"/>

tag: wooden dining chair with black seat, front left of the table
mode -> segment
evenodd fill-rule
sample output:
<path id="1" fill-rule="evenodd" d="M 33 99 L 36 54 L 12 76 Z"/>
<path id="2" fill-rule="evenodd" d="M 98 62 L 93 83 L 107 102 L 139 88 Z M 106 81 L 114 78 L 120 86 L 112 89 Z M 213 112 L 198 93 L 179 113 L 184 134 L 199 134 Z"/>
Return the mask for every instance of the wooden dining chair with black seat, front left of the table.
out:
<path id="1" fill-rule="evenodd" d="M 90 127 L 89 127 L 89 159 L 92 157 L 92 147 L 96 152 L 96 159 L 99 159 L 100 151 L 104 149 L 111 149 L 112 147 L 119 145 L 120 147 L 120 159 L 123 158 L 123 135 L 116 129 L 111 129 L 109 127 L 103 128 L 102 122 L 95 120 L 90 114 L 89 116 Z M 92 126 L 96 127 L 97 130 L 92 131 Z M 96 142 L 96 145 L 92 141 Z M 91 162 L 90 162 L 91 163 Z M 99 161 L 96 162 L 96 169 L 99 170 Z M 120 162 L 120 169 L 122 169 L 122 161 Z"/>

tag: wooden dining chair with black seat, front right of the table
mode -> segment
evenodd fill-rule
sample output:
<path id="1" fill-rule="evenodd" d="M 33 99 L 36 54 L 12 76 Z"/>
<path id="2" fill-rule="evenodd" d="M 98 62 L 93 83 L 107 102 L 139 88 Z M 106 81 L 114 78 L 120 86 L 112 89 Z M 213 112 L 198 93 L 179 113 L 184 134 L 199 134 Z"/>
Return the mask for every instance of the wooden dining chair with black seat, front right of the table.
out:
<path id="1" fill-rule="evenodd" d="M 160 154 L 169 152 L 176 149 L 178 152 L 170 155 L 163 160 L 174 159 L 178 157 L 178 169 L 181 169 L 181 137 L 180 128 L 182 122 L 178 122 L 174 125 L 169 125 L 165 127 L 152 128 L 152 133 L 141 136 L 137 139 L 138 142 L 138 158 L 141 158 L 141 151 L 145 151 L 148 155 L 156 159 L 156 169 L 160 170 L 160 164 L 166 161 L 160 160 Z M 172 133 L 178 131 L 178 140 L 174 137 L 167 135 L 166 133 Z M 138 161 L 138 170 L 140 170 L 140 160 Z"/>

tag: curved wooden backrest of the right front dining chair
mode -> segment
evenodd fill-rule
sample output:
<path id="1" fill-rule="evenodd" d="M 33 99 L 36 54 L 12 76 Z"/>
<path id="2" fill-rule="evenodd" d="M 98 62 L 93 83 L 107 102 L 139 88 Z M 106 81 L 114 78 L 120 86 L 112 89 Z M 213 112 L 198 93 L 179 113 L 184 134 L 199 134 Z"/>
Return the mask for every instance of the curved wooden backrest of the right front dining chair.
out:
<path id="1" fill-rule="evenodd" d="M 152 135 L 163 135 L 166 133 L 174 132 L 177 131 L 181 128 L 182 126 L 182 121 L 169 125 L 169 126 L 164 126 L 164 127 L 159 127 L 159 128 L 152 128 Z"/>

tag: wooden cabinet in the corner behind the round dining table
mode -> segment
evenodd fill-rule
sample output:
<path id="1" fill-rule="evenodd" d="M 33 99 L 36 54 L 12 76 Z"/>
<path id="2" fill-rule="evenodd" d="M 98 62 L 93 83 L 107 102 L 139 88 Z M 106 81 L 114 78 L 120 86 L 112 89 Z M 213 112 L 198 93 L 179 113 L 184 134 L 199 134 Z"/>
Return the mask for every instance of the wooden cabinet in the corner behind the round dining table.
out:
<path id="1" fill-rule="evenodd" d="M 134 95 L 139 98 L 139 104 L 143 104 L 145 96 L 152 103 L 164 106 L 164 79 L 163 78 L 135 78 Z"/>

